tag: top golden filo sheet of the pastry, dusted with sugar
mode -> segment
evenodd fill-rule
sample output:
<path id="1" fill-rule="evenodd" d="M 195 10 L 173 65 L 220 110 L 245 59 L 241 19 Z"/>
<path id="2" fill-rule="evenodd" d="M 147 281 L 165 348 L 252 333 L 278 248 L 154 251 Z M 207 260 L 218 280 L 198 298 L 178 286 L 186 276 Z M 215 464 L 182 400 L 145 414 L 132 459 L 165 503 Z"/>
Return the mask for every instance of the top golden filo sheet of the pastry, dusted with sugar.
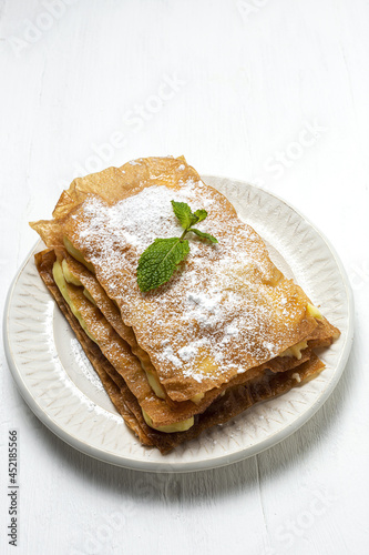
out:
<path id="1" fill-rule="evenodd" d="M 181 234 L 172 200 L 205 209 L 218 243 L 194 236 L 175 275 L 143 293 L 136 280 L 142 252 L 156 238 Z M 168 404 L 208 398 L 278 356 L 288 365 L 288 350 L 299 356 L 319 325 L 263 240 L 183 158 L 140 159 L 78 179 L 53 215 L 32 226 L 48 246 L 66 249 L 94 273 Z"/>

